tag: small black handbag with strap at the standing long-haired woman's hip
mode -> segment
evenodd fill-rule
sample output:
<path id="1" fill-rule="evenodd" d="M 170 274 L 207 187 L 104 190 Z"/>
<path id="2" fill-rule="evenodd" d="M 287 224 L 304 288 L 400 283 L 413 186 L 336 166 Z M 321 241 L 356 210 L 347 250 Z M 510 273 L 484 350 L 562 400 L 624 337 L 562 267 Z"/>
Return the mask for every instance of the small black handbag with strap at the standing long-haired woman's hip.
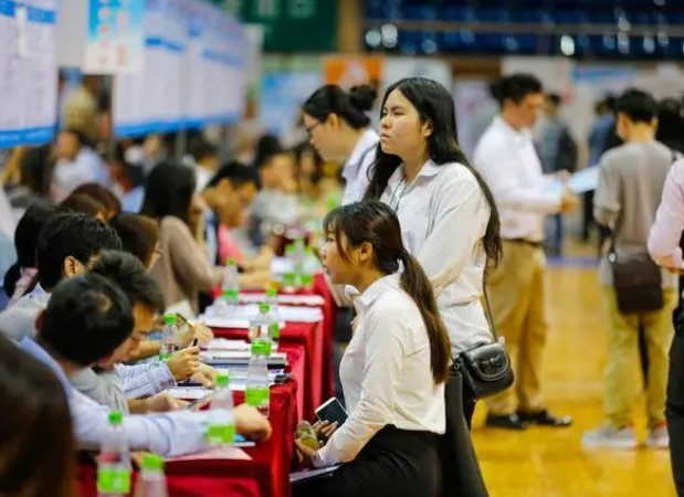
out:
<path id="1" fill-rule="evenodd" d="M 514 380 L 511 358 L 504 345 L 498 340 L 487 290 L 484 287 L 483 289 L 494 341 L 475 346 L 459 355 L 463 391 L 466 399 L 474 401 L 505 391 L 513 384 Z"/>

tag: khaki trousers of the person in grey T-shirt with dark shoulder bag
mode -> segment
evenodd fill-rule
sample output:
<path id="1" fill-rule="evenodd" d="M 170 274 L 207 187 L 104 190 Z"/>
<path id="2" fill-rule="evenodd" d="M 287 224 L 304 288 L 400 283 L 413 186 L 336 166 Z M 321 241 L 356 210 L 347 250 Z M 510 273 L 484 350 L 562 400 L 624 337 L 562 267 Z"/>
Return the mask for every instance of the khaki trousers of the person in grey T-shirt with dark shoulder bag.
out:
<path id="1" fill-rule="evenodd" d="M 603 288 L 603 307 L 609 321 L 608 366 L 603 408 L 610 424 L 622 427 L 632 424 L 632 406 L 641 390 L 639 381 L 639 324 L 643 324 L 649 356 L 646 385 L 646 415 L 649 426 L 665 421 L 665 392 L 672 345 L 672 311 L 677 304 L 673 289 L 663 290 L 665 306 L 661 310 L 640 314 L 621 314 L 615 290 Z"/>

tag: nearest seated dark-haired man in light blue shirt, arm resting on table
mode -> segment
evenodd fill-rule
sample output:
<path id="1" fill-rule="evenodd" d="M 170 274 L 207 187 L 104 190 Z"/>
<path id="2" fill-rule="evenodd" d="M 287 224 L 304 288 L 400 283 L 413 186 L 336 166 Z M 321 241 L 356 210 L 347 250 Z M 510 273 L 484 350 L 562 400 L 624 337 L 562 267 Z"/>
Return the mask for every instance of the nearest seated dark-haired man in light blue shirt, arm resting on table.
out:
<path id="1" fill-rule="evenodd" d="M 76 445 L 98 450 L 108 433 L 109 408 L 99 405 L 75 390 L 69 378 L 83 368 L 111 356 L 130 336 L 133 309 L 115 284 L 85 273 L 60 283 L 35 327 L 35 339 L 27 337 L 20 348 L 57 376 L 66 391 Z M 165 457 L 208 448 L 207 429 L 230 420 L 224 410 L 129 415 L 123 431 L 131 451 L 151 451 Z M 271 425 L 253 408 L 233 410 L 235 431 L 248 438 L 264 440 Z"/>

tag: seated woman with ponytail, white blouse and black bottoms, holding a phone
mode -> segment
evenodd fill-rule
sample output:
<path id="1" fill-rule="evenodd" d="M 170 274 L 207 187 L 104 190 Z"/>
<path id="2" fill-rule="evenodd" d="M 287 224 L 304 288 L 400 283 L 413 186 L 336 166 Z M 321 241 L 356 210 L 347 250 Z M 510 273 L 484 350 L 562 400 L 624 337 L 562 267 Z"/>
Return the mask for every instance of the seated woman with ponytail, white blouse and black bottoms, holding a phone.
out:
<path id="1" fill-rule="evenodd" d="M 359 324 L 340 366 L 347 420 L 318 451 L 297 442 L 309 465 L 341 467 L 295 496 L 435 497 L 451 358 L 430 282 L 387 205 L 340 207 L 324 229 L 324 267 L 358 289 Z"/>

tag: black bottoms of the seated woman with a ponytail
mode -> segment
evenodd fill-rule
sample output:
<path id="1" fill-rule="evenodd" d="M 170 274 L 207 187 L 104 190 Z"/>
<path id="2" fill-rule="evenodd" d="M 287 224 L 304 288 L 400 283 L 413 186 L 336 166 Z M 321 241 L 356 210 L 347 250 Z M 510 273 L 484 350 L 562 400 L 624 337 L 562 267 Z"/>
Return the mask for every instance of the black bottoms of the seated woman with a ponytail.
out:
<path id="1" fill-rule="evenodd" d="M 332 476 L 293 485 L 294 497 L 438 497 L 438 435 L 386 426 Z"/>

